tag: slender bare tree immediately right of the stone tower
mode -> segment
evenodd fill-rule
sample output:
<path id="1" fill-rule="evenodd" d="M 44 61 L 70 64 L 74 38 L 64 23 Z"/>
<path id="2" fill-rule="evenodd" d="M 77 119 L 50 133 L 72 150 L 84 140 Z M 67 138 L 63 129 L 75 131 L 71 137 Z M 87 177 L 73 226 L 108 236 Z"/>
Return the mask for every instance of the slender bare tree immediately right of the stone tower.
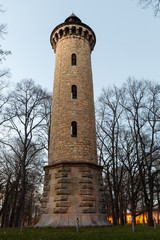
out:
<path id="1" fill-rule="evenodd" d="M 119 193 L 123 178 L 123 165 L 119 158 L 120 117 L 122 107 L 119 104 L 120 93 L 103 90 L 97 109 L 97 141 L 99 161 L 104 166 L 106 187 L 112 204 L 113 223 L 119 223 Z"/>

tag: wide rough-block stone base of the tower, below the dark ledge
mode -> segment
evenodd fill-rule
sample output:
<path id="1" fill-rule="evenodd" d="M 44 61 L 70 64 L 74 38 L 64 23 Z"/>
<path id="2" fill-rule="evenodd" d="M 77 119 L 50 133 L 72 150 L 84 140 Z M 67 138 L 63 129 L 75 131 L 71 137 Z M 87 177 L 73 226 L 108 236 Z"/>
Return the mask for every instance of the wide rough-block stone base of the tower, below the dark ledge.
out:
<path id="1" fill-rule="evenodd" d="M 102 167 L 63 162 L 46 166 L 36 227 L 107 226 Z"/>

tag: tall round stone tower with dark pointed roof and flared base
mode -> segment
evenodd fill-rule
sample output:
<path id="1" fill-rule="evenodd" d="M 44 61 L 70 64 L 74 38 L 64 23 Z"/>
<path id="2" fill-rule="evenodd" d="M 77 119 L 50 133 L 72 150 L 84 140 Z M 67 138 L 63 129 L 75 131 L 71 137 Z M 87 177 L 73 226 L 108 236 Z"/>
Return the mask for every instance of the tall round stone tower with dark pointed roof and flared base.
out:
<path id="1" fill-rule="evenodd" d="M 56 53 L 49 165 L 37 226 L 107 225 L 97 165 L 91 52 L 93 30 L 74 14 L 51 33 Z"/>

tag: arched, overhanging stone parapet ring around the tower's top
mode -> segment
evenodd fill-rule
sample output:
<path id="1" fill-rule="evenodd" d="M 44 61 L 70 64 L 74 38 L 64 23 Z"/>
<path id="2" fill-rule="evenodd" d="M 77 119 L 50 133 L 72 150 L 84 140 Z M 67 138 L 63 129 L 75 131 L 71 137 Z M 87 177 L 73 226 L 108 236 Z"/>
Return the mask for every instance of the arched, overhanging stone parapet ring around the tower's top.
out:
<path id="1" fill-rule="evenodd" d="M 91 52 L 93 51 L 96 43 L 96 37 L 93 30 L 84 23 L 72 21 L 64 22 L 52 31 L 50 41 L 55 53 L 58 41 L 68 37 L 77 37 L 87 40 Z"/>

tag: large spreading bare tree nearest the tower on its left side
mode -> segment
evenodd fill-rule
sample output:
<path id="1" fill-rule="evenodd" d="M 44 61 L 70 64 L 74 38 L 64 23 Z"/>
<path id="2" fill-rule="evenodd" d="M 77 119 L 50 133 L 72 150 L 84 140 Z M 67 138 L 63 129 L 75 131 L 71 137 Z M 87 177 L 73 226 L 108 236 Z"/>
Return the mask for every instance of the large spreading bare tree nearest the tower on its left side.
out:
<path id="1" fill-rule="evenodd" d="M 9 122 L 5 124 L 7 134 L 1 142 L 8 152 L 12 153 L 12 159 L 14 158 L 14 167 L 17 167 L 17 176 L 14 175 L 14 178 L 19 189 L 18 194 L 15 195 L 15 203 L 12 204 L 12 206 L 16 204 L 16 208 L 12 207 L 14 211 L 11 212 L 10 226 L 13 220 L 15 226 L 18 226 L 20 219 L 24 217 L 27 189 L 31 190 L 29 179 L 34 176 L 36 181 L 46 157 L 44 149 L 48 140 L 46 141 L 47 137 L 44 138 L 44 135 L 48 134 L 46 117 L 49 117 L 46 116 L 44 101 L 47 99 L 49 99 L 48 93 L 40 86 L 36 86 L 32 80 L 22 80 L 16 85 L 6 108 L 5 115 Z"/>

